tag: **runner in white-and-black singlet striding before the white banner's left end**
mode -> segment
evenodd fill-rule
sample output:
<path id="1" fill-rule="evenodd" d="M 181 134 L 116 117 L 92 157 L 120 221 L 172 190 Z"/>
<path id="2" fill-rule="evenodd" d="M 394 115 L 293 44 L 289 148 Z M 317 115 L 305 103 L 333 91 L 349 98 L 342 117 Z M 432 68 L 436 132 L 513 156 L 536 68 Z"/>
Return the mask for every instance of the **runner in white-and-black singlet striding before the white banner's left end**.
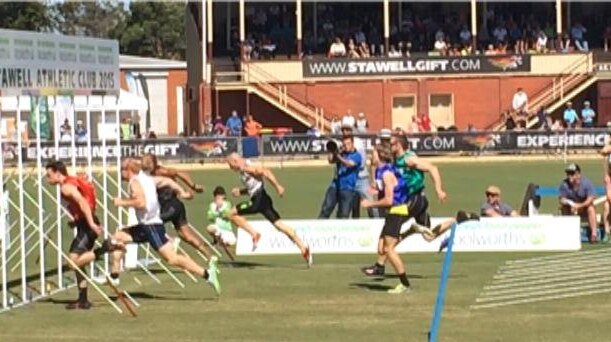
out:
<path id="1" fill-rule="evenodd" d="M 237 153 L 232 153 L 227 157 L 229 167 L 240 173 L 240 179 L 244 184 L 244 188 L 233 188 L 231 193 L 235 197 L 241 195 L 250 196 L 250 201 L 239 203 L 229 211 L 229 219 L 236 227 L 247 228 L 249 231 L 255 232 L 254 228 L 243 217 L 244 215 L 261 214 L 279 231 L 284 233 L 297 247 L 301 250 L 301 255 L 308 263 L 308 267 L 312 266 L 312 253 L 310 247 L 305 245 L 295 233 L 295 230 L 282 222 L 280 215 L 274 209 L 272 199 L 269 197 L 263 186 L 263 180 L 267 179 L 276 188 L 278 195 L 284 195 L 284 187 L 280 185 L 271 170 L 260 166 L 254 166 L 249 160 L 242 158 Z M 253 238 L 253 249 L 256 248 L 258 237 Z"/>

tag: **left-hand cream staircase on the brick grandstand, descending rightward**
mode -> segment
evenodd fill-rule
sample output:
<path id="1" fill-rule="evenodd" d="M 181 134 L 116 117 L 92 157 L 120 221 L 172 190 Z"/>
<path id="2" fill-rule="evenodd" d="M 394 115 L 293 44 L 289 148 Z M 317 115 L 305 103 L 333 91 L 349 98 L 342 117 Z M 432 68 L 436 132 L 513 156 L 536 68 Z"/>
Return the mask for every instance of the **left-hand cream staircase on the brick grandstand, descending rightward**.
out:
<path id="1" fill-rule="evenodd" d="M 310 101 L 300 100 L 279 84 L 277 78 L 252 63 L 243 62 L 241 71 L 216 72 L 215 86 L 223 89 L 244 89 L 256 94 L 306 126 L 315 123 L 322 133 L 331 132 L 331 121 L 324 115 L 324 109 Z"/>

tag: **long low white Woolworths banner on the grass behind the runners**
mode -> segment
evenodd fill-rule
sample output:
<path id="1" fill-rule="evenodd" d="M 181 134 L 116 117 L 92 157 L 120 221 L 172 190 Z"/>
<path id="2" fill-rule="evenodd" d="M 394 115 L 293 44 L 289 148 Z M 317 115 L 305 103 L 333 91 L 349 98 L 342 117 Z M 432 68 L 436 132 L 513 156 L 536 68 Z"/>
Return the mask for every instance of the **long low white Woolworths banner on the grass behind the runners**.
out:
<path id="1" fill-rule="evenodd" d="M 445 218 L 433 218 L 436 225 Z M 313 253 L 376 253 L 384 225 L 382 219 L 366 220 L 287 220 L 297 235 L 312 248 Z M 267 221 L 253 221 L 261 233 L 258 248 L 252 252 L 248 233 L 238 229 L 238 255 L 295 254 L 298 248 Z M 457 227 L 454 251 L 575 251 L 581 248 L 579 218 L 573 216 L 536 216 L 482 218 Z M 445 236 L 449 234 L 449 231 Z M 397 247 L 405 252 L 437 252 L 445 237 L 426 242 L 413 235 Z"/>

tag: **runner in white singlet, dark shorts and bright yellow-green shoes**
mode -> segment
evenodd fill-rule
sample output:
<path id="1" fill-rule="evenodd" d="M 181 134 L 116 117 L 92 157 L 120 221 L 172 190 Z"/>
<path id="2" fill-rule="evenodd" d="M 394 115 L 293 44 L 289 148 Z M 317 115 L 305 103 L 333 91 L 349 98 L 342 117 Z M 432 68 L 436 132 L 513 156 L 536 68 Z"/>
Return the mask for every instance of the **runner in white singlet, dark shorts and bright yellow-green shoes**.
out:
<path id="1" fill-rule="evenodd" d="M 211 258 L 208 269 L 196 264 L 188 257 L 178 255 L 168 241 L 165 227 L 160 217 L 159 201 L 157 200 L 156 180 L 142 172 L 140 164 L 134 159 L 126 159 L 121 165 L 121 177 L 129 182 L 129 198 L 116 198 L 117 207 L 131 207 L 136 211 L 138 224 L 133 227 L 118 230 L 113 235 L 113 244 L 105 241 L 106 250 L 113 251 L 113 263 L 110 277 L 118 280 L 121 260 L 125 254 L 125 245 L 131 242 L 148 242 L 151 247 L 170 265 L 180 267 L 206 279 L 217 295 L 221 293 L 218 279 L 217 259 Z M 166 179 L 166 181 L 171 181 Z M 97 253 L 99 254 L 99 253 Z"/>

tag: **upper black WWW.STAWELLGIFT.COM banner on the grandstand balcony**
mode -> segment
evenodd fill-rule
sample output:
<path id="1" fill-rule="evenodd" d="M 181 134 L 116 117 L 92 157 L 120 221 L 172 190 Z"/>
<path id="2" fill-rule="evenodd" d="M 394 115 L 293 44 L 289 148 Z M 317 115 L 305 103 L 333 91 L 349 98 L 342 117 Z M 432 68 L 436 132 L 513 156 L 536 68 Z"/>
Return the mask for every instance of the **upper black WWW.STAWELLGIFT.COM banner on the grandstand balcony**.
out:
<path id="1" fill-rule="evenodd" d="M 306 59 L 303 77 L 392 76 L 419 74 L 481 74 L 529 72 L 529 55 Z"/>

